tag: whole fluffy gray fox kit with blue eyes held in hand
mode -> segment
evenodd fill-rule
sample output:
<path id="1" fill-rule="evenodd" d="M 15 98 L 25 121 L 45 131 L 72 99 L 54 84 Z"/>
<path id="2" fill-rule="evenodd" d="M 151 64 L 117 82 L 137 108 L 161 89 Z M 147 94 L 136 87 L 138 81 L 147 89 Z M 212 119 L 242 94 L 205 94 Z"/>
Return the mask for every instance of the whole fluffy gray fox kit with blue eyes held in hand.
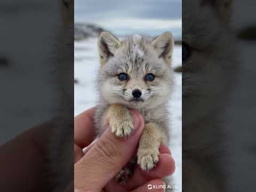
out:
<path id="1" fill-rule="evenodd" d="M 99 37 L 100 100 L 95 129 L 101 135 L 108 119 L 109 129 L 116 137 L 129 137 L 134 130 L 129 108 L 137 109 L 145 119 L 137 153 L 142 170 L 153 169 L 159 146 L 169 142 L 167 100 L 172 88 L 173 47 L 170 32 L 155 39 L 133 35 L 120 41 L 108 32 Z M 130 177 L 131 165 L 132 161 L 116 176 L 117 181 Z"/>

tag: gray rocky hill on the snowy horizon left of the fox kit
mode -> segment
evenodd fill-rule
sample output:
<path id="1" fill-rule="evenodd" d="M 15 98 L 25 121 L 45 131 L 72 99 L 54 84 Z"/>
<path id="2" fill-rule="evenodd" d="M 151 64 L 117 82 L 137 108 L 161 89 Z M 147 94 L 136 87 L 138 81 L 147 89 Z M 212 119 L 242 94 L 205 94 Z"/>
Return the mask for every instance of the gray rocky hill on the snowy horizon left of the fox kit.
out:
<path id="1" fill-rule="evenodd" d="M 103 29 L 99 26 L 86 23 L 75 23 L 74 39 L 79 41 L 88 37 L 98 37 Z"/>

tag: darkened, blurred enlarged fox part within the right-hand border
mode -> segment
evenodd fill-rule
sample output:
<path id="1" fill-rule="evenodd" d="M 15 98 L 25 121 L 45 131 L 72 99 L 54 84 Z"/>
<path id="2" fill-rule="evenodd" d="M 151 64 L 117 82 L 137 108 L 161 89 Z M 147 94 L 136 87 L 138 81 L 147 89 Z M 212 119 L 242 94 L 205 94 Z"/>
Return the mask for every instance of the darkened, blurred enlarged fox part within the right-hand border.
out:
<path id="1" fill-rule="evenodd" d="M 232 1 L 182 1 L 182 188 L 227 191 L 221 115 L 238 73 Z M 193 11 L 191 11 L 193 10 Z"/>

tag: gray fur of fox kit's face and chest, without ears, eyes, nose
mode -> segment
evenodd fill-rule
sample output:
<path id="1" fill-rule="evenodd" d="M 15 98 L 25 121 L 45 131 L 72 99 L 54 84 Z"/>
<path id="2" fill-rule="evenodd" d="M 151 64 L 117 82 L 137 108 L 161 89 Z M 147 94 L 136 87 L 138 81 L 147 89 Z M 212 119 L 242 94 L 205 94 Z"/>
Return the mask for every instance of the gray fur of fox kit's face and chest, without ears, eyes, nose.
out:
<path id="1" fill-rule="evenodd" d="M 166 48 L 170 50 L 170 45 Z M 119 81 L 120 73 L 129 74 L 129 81 Z M 145 82 L 144 78 L 148 73 L 156 76 L 153 82 Z M 169 137 L 166 103 L 170 98 L 172 84 L 171 68 L 163 57 L 159 58 L 152 38 L 139 35 L 125 38 L 113 53 L 113 57 L 101 66 L 98 73 L 99 103 L 94 117 L 97 135 L 101 135 L 106 129 L 103 125 L 103 114 L 107 107 L 120 103 L 127 108 L 137 109 L 144 117 L 145 123 L 155 122 L 161 125 L 161 131 Z M 134 89 L 142 91 L 144 102 L 129 101 Z"/>

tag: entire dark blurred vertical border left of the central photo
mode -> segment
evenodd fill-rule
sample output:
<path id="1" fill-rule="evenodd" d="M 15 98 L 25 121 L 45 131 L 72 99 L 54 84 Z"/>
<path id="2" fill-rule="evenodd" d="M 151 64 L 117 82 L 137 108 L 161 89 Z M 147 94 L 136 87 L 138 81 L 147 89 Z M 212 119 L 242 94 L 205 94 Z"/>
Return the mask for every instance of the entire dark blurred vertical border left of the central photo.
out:
<path id="1" fill-rule="evenodd" d="M 63 191 L 74 176 L 74 1 L 3 0 L 0 23 L 0 191 Z"/>

